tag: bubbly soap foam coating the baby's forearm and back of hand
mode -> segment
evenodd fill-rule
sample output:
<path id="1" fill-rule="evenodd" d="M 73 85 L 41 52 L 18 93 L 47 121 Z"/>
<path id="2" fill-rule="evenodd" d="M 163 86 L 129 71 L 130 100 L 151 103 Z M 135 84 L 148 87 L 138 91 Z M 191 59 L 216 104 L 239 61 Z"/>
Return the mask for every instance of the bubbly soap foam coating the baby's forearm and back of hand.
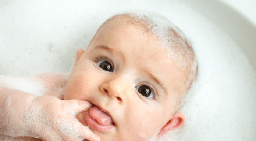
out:
<path id="1" fill-rule="evenodd" d="M 11 106 L 11 97 L 5 101 L 4 109 L 0 109 L 0 139 L 18 140 L 16 137 L 34 137 L 47 141 L 63 141 L 60 136 L 67 136 L 71 139 L 82 140 L 81 126 L 72 120 L 63 119 L 56 115 L 49 115 L 35 100 L 24 112 L 17 113 Z M 75 114 L 70 113 L 72 118 Z M 51 131 L 58 131 L 60 136 L 54 136 Z"/>

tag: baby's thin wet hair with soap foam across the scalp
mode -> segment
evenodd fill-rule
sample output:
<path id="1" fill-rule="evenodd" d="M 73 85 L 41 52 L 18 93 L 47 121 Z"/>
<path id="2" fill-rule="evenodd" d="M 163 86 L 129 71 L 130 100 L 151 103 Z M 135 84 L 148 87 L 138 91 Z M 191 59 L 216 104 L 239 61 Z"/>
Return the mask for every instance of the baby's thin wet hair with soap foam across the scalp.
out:
<path id="1" fill-rule="evenodd" d="M 107 24 L 110 21 L 111 24 Z M 184 85 L 179 90 L 177 100 L 180 101 L 177 103 L 177 108 L 181 107 L 185 100 L 184 97 L 189 93 L 189 89 L 191 89 L 191 86 L 193 82 L 195 82 L 198 74 L 196 57 L 185 35 L 163 15 L 141 10 L 122 12 L 113 16 L 103 23 L 97 33 L 102 29 L 102 27 L 109 29 L 112 26 L 120 25 L 119 23 L 123 24 L 124 21 L 128 24 L 134 25 L 134 27 L 143 29 L 145 32 L 153 34 L 159 44 L 159 47 L 170 54 L 169 57 L 180 69 L 183 74 Z"/>

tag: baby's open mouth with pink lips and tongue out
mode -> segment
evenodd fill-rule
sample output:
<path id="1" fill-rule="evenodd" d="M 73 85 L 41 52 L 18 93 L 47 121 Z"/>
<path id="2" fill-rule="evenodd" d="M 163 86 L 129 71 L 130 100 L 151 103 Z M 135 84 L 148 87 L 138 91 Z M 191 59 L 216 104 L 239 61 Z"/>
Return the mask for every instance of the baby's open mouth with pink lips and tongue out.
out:
<path id="1" fill-rule="evenodd" d="M 108 131 L 115 126 L 110 115 L 95 105 L 86 111 L 84 116 L 86 123 L 97 131 Z"/>

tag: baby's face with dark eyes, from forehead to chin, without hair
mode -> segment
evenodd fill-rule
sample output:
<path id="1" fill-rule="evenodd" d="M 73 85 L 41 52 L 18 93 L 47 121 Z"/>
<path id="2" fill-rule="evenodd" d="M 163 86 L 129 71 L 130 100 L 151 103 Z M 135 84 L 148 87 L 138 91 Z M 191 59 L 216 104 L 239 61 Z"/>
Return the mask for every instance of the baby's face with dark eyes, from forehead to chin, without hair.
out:
<path id="1" fill-rule="evenodd" d="M 102 141 L 149 140 L 170 120 L 182 75 L 151 34 L 129 24 L 103 27 L 77 53 L 64 99 L 95 105 L 77 118 Z"/>

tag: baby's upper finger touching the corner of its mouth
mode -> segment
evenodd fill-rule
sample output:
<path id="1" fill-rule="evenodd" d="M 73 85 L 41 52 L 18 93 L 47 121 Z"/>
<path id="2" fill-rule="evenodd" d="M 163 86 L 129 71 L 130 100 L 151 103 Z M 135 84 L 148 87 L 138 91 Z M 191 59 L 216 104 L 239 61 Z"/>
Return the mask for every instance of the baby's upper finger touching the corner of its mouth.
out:
<path id="1" fill-rule="evenodd" d="M 63 100 L 65 103 L 65 107 L 70 111 L 85 111 L 92 107 L 92 103 L 85 100 L 71 99 L 71 100 Z"/>

